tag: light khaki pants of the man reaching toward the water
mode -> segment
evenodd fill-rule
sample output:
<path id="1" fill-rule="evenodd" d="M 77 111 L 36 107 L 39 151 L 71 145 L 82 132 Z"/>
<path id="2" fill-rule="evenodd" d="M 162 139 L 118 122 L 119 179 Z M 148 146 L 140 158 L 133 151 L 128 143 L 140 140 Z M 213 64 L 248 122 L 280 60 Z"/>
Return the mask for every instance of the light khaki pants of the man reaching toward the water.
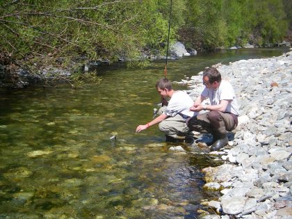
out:
<path id="1" fill-rule="evenodd" d="M 163 113 L 165 108 L 166 106 L 161 107 L 158 114 Z M 186 125 L 186 120 L 179 114 L 175 115 L 175 117 L 167 117 L 160 122 L 159 130 L 172 138 L 184 138 L 184 133 L 190 131 Z"/>

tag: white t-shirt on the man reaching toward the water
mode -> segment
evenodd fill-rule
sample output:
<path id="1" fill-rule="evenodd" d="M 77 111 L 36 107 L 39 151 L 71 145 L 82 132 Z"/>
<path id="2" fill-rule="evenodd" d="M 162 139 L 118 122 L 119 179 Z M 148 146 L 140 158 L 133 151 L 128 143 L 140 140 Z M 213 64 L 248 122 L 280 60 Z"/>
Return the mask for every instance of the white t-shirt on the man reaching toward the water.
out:
<path id="1" fill-rule="evenodd" d="M 177 114 L 183 117 L 193 117 L 197 113 L 190 111 L 190 106 L 193 106 L 193 99 L 186 92 L 178 90 L 170 98 L 168 106 L 163 113 L 172 117 Z"/>

